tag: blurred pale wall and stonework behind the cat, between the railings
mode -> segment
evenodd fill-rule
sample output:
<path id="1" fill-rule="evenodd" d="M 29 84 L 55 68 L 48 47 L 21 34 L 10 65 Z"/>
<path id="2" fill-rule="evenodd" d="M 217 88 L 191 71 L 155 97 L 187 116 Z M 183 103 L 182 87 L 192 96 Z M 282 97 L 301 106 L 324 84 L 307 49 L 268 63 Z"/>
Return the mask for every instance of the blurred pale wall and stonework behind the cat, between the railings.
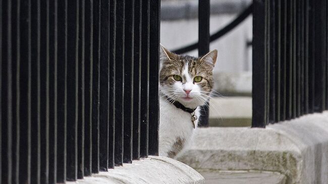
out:
<path id="1" fill-rule="evenodd" d="M 211 0 L 210 34 L 232 22 L 251 0 Z M 198 0 L 162 0 L 160 42 L 176 50 L 198 41 Z M 252 110 L 252 16 L 224 36 L 210 42 L 218 55 L 213 71 L 209 126 L 248 127 Z M 198 50 L 184 54 L 198 56 Z M 229 97 L 229 98 L 228 98 Z"/>

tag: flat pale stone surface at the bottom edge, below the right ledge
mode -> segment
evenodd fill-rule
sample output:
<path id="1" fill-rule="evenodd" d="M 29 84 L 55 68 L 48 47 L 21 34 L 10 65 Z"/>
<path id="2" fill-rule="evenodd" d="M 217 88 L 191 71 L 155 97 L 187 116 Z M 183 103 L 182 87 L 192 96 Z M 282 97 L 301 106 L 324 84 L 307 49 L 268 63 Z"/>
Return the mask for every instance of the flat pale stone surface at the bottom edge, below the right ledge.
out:
<path id="1" fill-rule="evenodd" d="M 198 170 L 205 177 L 205 184 L 285 184 L 280 173 L 257 171 Z"/>

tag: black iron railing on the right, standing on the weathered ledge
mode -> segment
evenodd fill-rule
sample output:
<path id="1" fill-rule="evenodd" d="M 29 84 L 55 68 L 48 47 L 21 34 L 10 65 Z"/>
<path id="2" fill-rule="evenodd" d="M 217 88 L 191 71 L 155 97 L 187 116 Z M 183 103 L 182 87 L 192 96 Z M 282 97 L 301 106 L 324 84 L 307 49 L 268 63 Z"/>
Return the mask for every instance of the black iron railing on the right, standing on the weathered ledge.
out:
<path id="1" fill-rule="evenodd" d="M 252 127 L 328 109 L 327 4 L 253 1 Z"/>

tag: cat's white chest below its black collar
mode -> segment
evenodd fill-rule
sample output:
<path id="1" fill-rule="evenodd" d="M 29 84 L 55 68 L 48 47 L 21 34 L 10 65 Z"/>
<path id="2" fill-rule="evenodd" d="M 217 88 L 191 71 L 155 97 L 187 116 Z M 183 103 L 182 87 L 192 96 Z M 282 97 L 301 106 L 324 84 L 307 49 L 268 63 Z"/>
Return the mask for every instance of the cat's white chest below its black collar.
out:
<path id="1" fill-rule="evenodd" d="M 159 156 L 168 156 L 177 139 L 184 140 L 184 146 L 188 144 L 197 129 L 198 119 L 194 121 L 194 129 L 190 113 L 168 104 L 163 98 L 160 98 L 159 102 Z M 195 110 L 197 117 L 199 117 L 198 108 Z"/>

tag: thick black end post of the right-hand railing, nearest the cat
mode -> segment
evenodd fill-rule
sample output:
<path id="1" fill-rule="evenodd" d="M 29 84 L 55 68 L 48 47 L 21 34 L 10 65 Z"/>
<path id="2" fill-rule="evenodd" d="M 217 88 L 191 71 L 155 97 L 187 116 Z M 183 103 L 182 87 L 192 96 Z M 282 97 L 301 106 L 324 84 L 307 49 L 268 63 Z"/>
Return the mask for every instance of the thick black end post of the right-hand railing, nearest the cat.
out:
<path id="1" fill-rule="evenodd" d="M 266 58 L 265 50 L 265 5 L 263 1 L 253 2 L 253 89 L 252 127 L 265 127 L 266 125 Z M 256 100 L 255 100 L 256 99 Z"/>

